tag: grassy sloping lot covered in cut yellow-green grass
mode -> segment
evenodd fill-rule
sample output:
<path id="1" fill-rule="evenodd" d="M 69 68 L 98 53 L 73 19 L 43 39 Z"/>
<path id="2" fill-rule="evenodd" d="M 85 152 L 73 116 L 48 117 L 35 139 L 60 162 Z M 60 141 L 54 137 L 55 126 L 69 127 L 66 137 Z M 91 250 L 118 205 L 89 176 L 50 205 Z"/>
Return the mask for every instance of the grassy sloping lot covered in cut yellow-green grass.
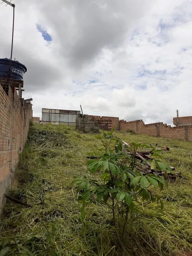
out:
<path id="1" fill-rule="evenodd" d="M 117 242 L 111 209 L 89 204 L 82 233 L 81 203 L 71 185 L 86 174 L 87 156 L 100 156 L 96 134 L 73 127 L 33 124 L 17 171 L 18 188 L 10 195 L 31 204 L 6 203 L 0 222 L 0 255 L 191 255 L 192 252 L 192 143 L 116 132 L 127 143 L 145 143 L 163 152 L 163 161 L 180 171 L 158 193 L 164 208 L 151 203 L 132 214 L 125 247 Z"/>

